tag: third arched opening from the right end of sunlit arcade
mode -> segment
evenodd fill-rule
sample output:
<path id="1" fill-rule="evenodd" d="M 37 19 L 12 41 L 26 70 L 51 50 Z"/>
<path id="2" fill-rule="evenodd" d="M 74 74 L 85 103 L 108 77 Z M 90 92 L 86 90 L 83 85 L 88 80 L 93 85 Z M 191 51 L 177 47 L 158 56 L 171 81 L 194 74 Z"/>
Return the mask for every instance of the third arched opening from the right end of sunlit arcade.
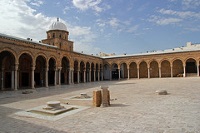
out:
<path id="1" fill-rule="evenodd" d="M 171 77 L 170 62 L 167 60 L 164 60 L 161 63 L 161 77 Z"/>

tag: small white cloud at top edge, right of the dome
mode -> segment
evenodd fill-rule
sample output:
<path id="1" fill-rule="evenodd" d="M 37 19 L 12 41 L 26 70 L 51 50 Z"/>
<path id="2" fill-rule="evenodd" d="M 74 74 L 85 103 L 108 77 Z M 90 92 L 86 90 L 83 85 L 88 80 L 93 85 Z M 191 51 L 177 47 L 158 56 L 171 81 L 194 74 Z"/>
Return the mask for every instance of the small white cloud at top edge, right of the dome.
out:
<path id="1" fill-rule="evenodd" d="M 101 12 L 103 9 L 99 7 L 102 0 L 73 0 L 74 6 L 80 10 L 93 9 L 96 12 Z"/>

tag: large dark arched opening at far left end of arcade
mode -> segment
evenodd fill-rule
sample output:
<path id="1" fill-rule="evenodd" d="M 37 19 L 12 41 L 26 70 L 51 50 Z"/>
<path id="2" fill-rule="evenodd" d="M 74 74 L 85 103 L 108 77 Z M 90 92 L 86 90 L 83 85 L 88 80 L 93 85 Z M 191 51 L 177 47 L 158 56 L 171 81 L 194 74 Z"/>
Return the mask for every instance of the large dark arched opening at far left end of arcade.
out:
<path id="1" fill-rule="evenodd" d="M 0 85 L 2 90 L 14 89 L 14 76 L 17 76 L 14 75 L 14 63 L 15 57 L 11 52 L 3 51 L 0 53 Z"/>

